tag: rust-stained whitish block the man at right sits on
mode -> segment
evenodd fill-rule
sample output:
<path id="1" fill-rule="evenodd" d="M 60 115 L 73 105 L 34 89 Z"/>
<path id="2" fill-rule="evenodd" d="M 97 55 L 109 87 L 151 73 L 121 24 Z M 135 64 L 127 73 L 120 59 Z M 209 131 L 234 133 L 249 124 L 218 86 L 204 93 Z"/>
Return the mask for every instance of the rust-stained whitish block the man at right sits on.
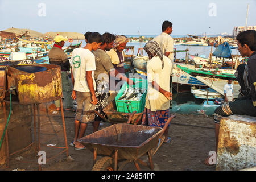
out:
<path id="1" fill-rule="evenodd" d="M 256 117 L 230 115 L 220 122 L 216 170 L 256 166 Z"/>

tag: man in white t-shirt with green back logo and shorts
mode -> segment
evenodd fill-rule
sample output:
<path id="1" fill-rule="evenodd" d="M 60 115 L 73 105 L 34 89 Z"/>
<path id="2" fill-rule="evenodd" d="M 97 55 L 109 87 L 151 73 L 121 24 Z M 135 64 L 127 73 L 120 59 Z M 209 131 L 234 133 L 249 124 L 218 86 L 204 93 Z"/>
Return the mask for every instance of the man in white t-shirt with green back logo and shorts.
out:
<path id="1" fill-rule="evenodd" d="M 96 82 L 94 80 L 95 56 L 91 51 L 96 51 L 101 43 L 101 35 L 98 32 L 93 32 L 89 36 L 85 47 L 76 48 L 72 51 L 74 85 L 72 98 L 77 100 L 77 113 L 75 117 L 75 138 L 70 145 L 75 146 L 75 150 L 85 149 L 85 146 L 77 139 L 84 137 L 88 123 L 94 122 L 94 109 L 98 100 L 95 94 Z"/>

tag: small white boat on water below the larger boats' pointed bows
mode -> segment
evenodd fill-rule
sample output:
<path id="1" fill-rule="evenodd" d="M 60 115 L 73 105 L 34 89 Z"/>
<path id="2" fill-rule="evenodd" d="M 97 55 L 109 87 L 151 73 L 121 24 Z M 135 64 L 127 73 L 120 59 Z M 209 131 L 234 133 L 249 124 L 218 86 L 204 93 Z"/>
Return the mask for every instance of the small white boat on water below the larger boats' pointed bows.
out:
<path id="1" fill-rule="evenodd" d="M 197 89 L 196 87 L 191 87 L 191 93 L 195 96 L 195 98 L 215 100 L 216 97 L 223 97 L 220 93 L 212 88 L 207 89 Z"/>

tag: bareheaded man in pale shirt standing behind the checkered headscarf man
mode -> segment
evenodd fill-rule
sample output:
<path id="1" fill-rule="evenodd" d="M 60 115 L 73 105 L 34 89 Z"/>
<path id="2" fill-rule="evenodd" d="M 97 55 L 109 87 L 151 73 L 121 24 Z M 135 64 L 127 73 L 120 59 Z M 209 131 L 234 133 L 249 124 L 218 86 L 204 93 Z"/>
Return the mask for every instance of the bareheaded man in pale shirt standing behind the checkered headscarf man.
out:
<path id="1" fill-rule="evenodd" d="M 167 56 L 172 61 L 173 68 L 174 39 L 170 36 L 171 33 L 172 23 L 166 20 L 162 24 L 162 33 L 156 36 L 153 40 L 158 43 L 160 49 L 162 50 L 163 55 Z M 170 92 L 172 93 L 172 77 L 170 78 Z M 172 108 L 172 101 L 170 101 L 170 108 Z"/>

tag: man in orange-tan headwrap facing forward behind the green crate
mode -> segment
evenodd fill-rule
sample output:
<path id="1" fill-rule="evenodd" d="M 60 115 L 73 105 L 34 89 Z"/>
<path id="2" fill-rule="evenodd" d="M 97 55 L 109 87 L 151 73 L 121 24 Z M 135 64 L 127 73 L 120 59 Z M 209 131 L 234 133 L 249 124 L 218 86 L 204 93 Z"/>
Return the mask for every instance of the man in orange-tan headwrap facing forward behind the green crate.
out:
<path id="1" fill-rule="evenodd" d="M 118 74 L 117 76 L 110 75 L 110 81 L 109 81 L 109 92 L 110 92 L 110 97 L 109 97 L 109 102 L 113 101 L 115 96 L 117 96 L 117 92 L 119 88 L 116 88 L 116 86 L 119 86 L 121 88 L 121 75 L 124 75 L 125 73 L 125 53 L 124 49 L 126 47 L 127 42 L 129 42 L 129 39 L 126 38 L 125 35 L 117 35 L 115 37 L 113 49 L 108 51 L 108 55 L 110 56 L 111 62 L 114 65 L 114 68 L 116 71 L 118 71 L 121 74 Z M 120 84 L 118 84 L 120 82 Z"/>

